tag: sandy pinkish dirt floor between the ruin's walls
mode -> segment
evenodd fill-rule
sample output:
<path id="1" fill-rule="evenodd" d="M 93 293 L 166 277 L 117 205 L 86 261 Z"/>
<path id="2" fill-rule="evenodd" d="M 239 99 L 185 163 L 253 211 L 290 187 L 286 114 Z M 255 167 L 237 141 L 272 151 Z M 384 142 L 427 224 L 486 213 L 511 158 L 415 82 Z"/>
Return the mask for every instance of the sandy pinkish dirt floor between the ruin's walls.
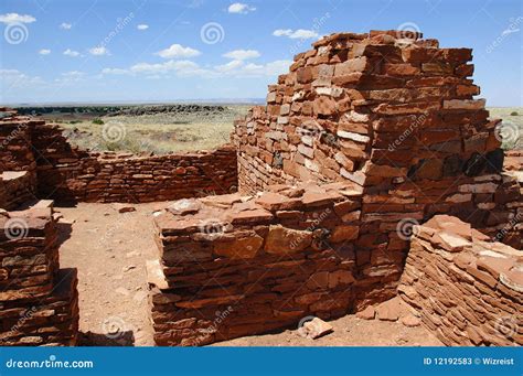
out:
<path id="1" fill-rule="evenodd" d="M 79 203 L 56 207 L 62 268 L 78 269 L 81 345 L 153 346 L 147 302 L 146 261 L 157 256 L 152 213 L 168 203 L 130 205 Z M 126 205 L 129 206 L 129 205 Z M 423 326 L 366 321 L 346 315 L 330 322 L 334 332 L 318 340 L 297 330 L 241 337 L 216 346 L 438 346 Z"/>

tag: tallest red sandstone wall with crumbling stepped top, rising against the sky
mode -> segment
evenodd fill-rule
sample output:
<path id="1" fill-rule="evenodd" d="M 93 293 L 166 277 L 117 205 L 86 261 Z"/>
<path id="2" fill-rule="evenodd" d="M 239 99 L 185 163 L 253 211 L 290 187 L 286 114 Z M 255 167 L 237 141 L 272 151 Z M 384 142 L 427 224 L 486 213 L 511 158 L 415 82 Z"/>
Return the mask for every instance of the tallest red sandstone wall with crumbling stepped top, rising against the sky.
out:
<path id="1" fill-rule="evenodd" d="M 332 34 L 296 55 L 267 106 L 235 125 L 241 192 L 356 183 L 356 244 L 385 250 L 395 267 L 408 249 L 398 226 L 441 213 L 521 248 L 521 178 L 501 173 L 499 120 L 473 98 L 472 51 L 420 36 Z"/>

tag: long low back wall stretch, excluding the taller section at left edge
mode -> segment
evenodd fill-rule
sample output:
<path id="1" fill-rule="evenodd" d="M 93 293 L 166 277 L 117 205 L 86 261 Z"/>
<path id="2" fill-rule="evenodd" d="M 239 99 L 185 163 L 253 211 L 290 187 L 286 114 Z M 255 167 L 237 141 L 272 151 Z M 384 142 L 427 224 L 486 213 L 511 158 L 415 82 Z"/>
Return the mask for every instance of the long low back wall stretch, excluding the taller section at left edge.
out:
<path id="1" fill-rule="evenodd" d="M 55 200 L 142 203 L 231 193 L 237 185 L 231 147 L 159 157 L 89 153 L 54 161 L 40 164 L 38 176 L 40 195 Z"/>

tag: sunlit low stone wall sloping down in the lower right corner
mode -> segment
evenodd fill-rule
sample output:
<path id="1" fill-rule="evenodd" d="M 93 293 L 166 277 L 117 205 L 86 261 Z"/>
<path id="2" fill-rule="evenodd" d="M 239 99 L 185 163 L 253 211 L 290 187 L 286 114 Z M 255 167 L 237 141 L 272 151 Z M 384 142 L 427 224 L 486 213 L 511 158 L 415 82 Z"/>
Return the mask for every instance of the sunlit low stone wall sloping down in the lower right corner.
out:
<path id="1" fill-rule="evenodd" d="M 438 215 L 416 226 L 398 288 L 446 345 L 522 345 L 523 256 Z"/>

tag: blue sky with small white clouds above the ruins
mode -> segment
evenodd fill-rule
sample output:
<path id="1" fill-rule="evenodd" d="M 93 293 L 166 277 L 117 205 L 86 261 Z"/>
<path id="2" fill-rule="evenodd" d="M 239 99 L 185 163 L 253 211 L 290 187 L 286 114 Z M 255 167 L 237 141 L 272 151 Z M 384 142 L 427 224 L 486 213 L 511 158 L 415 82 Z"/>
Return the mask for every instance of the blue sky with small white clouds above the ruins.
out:
<path id="1" fill-rule="evenodd" d="M 522 4 L 2 0 L 0 103 L 264 98 L 319 36 L 403 28 L 472 47 L 488 106 L 522 106 Z"/>

